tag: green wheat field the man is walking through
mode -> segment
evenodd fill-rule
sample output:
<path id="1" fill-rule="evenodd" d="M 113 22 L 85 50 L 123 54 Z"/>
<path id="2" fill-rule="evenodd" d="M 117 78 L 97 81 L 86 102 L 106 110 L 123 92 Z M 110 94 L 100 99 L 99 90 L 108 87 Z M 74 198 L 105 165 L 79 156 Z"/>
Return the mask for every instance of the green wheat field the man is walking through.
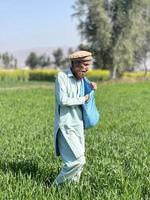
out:
<path id="1" fill-rule="evenodd" d="M 150 82 L 100 83 L 96 102 L 80 183 L 56 188 L 54 84 L 0 83 L 0 200 L 150 199 Z"/>

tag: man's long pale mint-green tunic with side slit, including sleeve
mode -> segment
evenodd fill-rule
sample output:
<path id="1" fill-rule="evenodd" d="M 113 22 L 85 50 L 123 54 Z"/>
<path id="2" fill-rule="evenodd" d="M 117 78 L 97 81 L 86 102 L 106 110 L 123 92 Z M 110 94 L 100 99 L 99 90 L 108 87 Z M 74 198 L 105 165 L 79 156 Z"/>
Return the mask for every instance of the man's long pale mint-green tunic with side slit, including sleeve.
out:
<path id="1" fill-rule="evenodd" d="M 84 127 L 81 105 L 85 98 L 80 97 L 81 81 L 68 69 L 59 72 L 55 81 L 55 125 L 54 144 L 59 156 L 57 133 L 60 129 L 76 158 L 84 155 Z"/>

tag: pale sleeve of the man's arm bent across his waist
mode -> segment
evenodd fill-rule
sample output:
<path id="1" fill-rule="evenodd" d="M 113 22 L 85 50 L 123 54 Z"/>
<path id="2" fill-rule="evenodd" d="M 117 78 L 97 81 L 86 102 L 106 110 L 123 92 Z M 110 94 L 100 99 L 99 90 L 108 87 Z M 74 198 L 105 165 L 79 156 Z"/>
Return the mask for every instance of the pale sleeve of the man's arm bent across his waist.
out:
<path id="1" fill-rule="evenodd" d="M 68 96 L 66 77 L 61 73 L 58 74 L 55 81 L 55 95 L 60 106 L 75 106 L 85 103 L 84 97 L 71 98 Z"/>

